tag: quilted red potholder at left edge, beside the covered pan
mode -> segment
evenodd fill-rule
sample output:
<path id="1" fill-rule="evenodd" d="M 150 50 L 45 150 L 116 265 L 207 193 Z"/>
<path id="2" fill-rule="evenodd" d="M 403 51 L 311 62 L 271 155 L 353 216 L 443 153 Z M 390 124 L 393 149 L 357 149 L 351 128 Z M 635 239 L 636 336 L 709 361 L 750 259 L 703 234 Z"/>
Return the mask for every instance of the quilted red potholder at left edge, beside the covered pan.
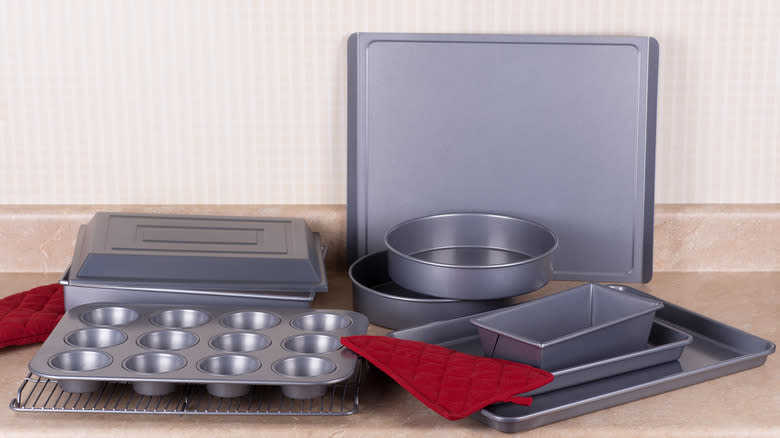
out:
<path id="1" fill-rule="evenodd" d="M 0 300 L 0 348 L 45 341 L 65 313 L 62 286 L 50 284 Z"/>

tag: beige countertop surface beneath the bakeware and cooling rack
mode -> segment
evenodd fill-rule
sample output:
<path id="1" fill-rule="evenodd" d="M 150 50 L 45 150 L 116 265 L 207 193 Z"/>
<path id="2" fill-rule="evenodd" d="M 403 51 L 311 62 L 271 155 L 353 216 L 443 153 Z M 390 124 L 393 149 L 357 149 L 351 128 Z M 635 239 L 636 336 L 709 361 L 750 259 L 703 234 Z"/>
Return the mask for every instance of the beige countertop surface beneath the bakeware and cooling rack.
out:
<path id="1" fill-rule="evenodd" d="M 56 281 L 56 274 L 2 274 L 0 296 Z M 315 307 L 347 308 L 344 272 L 329 272 L 330 291 Z M 552 282 L 536 298 L 576 283 Z M 780 272 L 656 273 L 639 289 L 693 311 L 777 341 Z M 372 326 L 370 334 L 386 330 Z M 0 402 L 16 395 L 38 345 L 0 350 Z M 524 436 L 780 436 L 780 361 L 730 376 L 605 409 L 525 432 Z M 4 400 L 4 401 L 3 401 Z M 504 436 L 476 420 L 451 422 L 426 408 L 382 373 L 372 370 L 360 392 L 360 410 L 346 417 L 239 417 L 34 413 L 0 409 L 0 436 Z"/>

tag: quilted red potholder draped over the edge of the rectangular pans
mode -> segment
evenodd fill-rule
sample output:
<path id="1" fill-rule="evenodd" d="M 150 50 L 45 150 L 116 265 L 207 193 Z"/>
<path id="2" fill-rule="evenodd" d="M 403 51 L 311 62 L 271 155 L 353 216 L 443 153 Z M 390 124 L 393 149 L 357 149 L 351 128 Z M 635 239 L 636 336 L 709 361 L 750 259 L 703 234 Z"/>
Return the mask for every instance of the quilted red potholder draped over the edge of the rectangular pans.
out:
<path id="1" fill-rule="evenodd" d="M 553 375 L 529 365 L 472 356 L 438 345 L 386 336 L 347 336 L 341 343 L 384 371 L 426 406 L 448 420 L 467 417 L 485 406 L 512 402 L 544 386 Z"/>

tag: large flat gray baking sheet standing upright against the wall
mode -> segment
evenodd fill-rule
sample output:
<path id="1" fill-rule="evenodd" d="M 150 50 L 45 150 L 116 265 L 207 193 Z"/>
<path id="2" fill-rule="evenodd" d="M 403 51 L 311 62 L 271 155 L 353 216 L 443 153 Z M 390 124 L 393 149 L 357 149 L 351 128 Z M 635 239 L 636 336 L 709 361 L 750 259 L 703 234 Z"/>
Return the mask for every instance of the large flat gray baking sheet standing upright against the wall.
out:
<path id="1" fill-rule="evenodd" d="M 558 235 L 553 279 L 650 280 L 654 39 L 357 33 L 348 59 L 350 261 L 487 212 Z"/>

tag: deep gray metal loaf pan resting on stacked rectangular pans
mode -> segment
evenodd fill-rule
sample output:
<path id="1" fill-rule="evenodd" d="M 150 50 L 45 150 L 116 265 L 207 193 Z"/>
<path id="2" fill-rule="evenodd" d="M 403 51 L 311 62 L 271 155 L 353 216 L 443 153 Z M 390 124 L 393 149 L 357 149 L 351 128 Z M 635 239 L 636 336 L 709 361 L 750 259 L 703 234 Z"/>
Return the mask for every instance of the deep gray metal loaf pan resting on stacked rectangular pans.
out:
<path id="1" fill-rule="evenodd" d="M 662 307 L 590 283 L 474 317 L 471 323 L 487 356 L 554 370 L 644 347 Z"/>

